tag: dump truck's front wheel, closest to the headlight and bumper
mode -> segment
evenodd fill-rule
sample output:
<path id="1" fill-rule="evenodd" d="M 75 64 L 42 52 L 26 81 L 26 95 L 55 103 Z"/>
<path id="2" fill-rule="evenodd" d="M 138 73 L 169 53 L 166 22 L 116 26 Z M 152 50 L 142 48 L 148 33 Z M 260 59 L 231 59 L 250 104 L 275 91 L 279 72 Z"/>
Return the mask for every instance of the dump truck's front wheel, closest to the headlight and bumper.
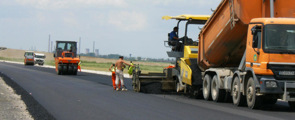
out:
<path id="1" fill-rule="evenodd" d="M 258 109 L 261 105 L 261 96 L 256 95 L 254 79 L 248 80 L 246 88 L 247 104 L 250 109 Z"/>

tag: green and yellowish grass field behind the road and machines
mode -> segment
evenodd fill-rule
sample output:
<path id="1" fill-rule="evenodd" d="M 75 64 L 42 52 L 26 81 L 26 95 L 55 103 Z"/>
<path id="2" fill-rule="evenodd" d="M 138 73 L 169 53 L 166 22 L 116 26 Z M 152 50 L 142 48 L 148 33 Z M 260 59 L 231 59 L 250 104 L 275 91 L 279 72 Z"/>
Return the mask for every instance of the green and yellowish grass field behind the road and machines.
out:
<path id="1" fill-rule="evenodd" d="M 0 57 L 0 60 L 24 62 L 24 59 L 5 58 L 5 57 Z M 83 60 L 81 60 L 81 63 L 82 63 L 81 69 L 98 70 L 98 71 L 109 71 L 109 68 L 112 65 L 112 63 L 96 63 L 95 61 L 83 61 Z M 159 65 L 161 64 L 165 64 L 165 63 L 159 63 Z M 55 66 L 55 62 L 45 61 L 44 65 Z M 139 67 L 140 67 L 140 70 L 142 70 L 142 73 L 149 73 L 149 72 L 162 73 L 163 72 L 163 65 L 161 66 L 140 65 Z M 124 70 L 124 73 L 127 73 L 127 72 L 128 72 L 128 65 L 126 65 L 126 69 Z"/>

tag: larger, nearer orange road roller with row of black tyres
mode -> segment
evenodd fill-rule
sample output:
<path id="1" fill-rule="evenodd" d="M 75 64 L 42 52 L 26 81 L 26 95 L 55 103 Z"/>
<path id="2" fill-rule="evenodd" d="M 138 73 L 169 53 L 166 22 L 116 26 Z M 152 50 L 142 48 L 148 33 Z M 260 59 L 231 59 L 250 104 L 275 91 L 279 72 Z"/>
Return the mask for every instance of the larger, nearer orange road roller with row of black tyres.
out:
<path id="1" fill-rule="evenodd" d="M 55 70 L 58 75 L 77 75 L 78 63 L 77 42 L 56 41 L 56 53 L 54 53 Z"/>

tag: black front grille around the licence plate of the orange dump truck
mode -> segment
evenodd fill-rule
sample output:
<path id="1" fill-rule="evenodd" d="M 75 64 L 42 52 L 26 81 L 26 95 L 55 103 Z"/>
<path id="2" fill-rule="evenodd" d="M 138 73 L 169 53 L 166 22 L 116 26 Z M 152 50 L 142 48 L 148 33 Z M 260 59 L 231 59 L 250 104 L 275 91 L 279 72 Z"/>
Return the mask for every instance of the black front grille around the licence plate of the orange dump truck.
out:
<path id="1" fill-rule="evenodd" d="M 295 75 L 280 75 L 280 71 L 295 71 L 295 65 L 276 65 L 268 64 L 267 69 L 270 69 L 277 80 L 295 80 Z"/>

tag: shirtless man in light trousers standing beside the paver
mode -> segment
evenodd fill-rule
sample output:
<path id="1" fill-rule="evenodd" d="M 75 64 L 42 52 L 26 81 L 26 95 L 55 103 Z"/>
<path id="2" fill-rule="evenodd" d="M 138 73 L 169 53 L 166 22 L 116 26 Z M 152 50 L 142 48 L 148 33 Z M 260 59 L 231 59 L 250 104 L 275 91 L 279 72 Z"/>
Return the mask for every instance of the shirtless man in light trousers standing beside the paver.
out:
<path id="1" fill-rule="evenodd" d="M 128 63 L 126 63 L 123 59 L 124 57 L 123 56 L 120 56 L 119 57 L 120 59 L 117 60 L 116 64 L 115 64 L 115 73 L 116 73 L 116 90 L 120 90 L 118 88 L 118 85 L 119 85 L 119 80 L 121 81 L 121 85 L 122 85 L 122 91 L 127 91 L 127 89 L 125 88 L 124 86 L 124 74 L 123 74 L 123 63 L 126 64 L 126 65 L 129 65 L 129 66 L 132 66 L 132 67 L 135 67 L 134 65 L 130 65 Z M 117 68 L 117 70 L 116 70 Z"/>

